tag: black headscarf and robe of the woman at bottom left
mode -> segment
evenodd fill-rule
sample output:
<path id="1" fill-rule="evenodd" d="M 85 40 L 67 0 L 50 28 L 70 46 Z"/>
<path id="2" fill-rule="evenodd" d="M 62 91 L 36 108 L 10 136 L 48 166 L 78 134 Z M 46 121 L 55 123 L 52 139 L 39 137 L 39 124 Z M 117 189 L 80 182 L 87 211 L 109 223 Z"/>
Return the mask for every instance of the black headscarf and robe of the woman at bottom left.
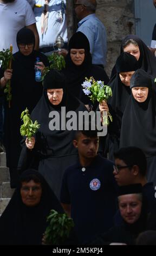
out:
<path id="1" fill-rule="evenodd" d="M 42 196 L 38 205 L 28 207 L 22 202 L 20 189 L 23 180 L 33 180 L 34 177 L 41 182 Z M 43 176 L 34 169 L 25 170 L 0 218 L 0 244 L 41 245 L 47 227 L 47 216 L 51 209 L 63 212 L 59 200 Z"/>

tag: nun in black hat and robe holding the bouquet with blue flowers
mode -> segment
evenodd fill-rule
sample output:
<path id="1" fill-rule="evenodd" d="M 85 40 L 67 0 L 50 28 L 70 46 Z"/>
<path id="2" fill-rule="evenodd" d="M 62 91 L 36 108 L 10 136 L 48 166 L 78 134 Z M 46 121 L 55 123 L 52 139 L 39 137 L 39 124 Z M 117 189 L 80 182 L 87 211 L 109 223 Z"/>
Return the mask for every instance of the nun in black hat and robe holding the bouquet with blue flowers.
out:
<path id="1" fill-rule="evenodd" d="M 138 61 L 131 54 L 124 52 L 116 60 L 115 67 L 117 74 L 108 83 L 112 88 L 112 97 L 108 100 L 108 107 L 113 116 L 113 123 L 108 126 L 106 141 L 109 160 L 114 160 L 113 153 L 119 149 L 122 115 L 131 95 L 130 81 L 135 70 L 138 69 Z M 99 105 L 100 111 L 108 111 L 108 107 L 105 102 Z"/>

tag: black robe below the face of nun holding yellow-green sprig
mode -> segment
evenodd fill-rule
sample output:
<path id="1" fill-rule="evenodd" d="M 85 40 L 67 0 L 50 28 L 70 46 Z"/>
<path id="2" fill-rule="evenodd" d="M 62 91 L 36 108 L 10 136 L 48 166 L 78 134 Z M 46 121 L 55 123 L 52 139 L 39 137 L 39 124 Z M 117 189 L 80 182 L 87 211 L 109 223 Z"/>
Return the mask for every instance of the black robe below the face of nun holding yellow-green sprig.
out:
<path id="1" fill-rule="evenodd" d="M 63 93 L 61 103 L 54 106 L 50 103 L 47 96 L 47 90 L 44 90 L 43 95 L 32 111 L 32 121 L 37 120 L 41 124 L 40 129 L 36 133 L 35 148 L 32 151 L 24 146 L 21 157 L 19 159 L 18 169 L 22 171 L 28 167 L 38 169 L 47 180 L 56 196 L 60 196 L 60 188 L 64 170 L 77 161 L 77 149 L 74 148 L 73 139 L 75 131 L 59 130 L 51 131 L 49 129 L 49 113 L 56 111 L 57 114 L 63 117 L 61 107 L 66 107 L 67 111 L 74 111 L 76 114 L 79 111 L 87 111 L 85 105 L 76 97 L 66 92 Z M 67 118 L 64 119 L 67 122 Z"/>

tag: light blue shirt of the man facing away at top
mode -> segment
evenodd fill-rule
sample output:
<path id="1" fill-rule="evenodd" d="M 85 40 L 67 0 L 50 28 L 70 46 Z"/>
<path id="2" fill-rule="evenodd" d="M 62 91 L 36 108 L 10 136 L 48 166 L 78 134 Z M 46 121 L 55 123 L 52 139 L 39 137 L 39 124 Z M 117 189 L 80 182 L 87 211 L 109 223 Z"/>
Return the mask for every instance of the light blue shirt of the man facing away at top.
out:
<path id="1" fill-rule="evenodd" d="M 85 34 L 89 40 L 92 63 L 106 65 L 107 35 L 103 23 L 95 14 L 89 14 L 78 23 L 77 32 Z"/>

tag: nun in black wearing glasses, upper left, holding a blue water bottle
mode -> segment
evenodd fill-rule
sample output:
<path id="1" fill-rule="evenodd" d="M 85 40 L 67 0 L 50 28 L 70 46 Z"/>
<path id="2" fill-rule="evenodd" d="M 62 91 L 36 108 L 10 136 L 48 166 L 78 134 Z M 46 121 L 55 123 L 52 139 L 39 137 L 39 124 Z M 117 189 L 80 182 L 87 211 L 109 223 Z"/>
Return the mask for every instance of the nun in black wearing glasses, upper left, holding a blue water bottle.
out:
<path id="1" fill-rule="evenodd" d="M 29 113 L 36 106 L 42 96 L 42 82 L 35 81 L 35 61 L 40 58 L 41 64 L 48 66 L 47 56 L 35 51 L 35 35 L 28 28 L 22 28 L 17 33 L 17 46 L 19 51 L 13 54 L 10 70 L 0 70 L 3 82 L 9 72 L 11 77 L 11 106 L 5 100 L 4 144 L 6 148 L 6 165 L 10 170 L 11 187 L 16 187 L 17 163 L 21 152 L 20 126 L 21 113 L 27 107 Z M 27 45 L 27 46 L 26 46 Z M 43 65 L 43 66 L 44 66 Z M 11 76 L 11 75 L 10 75 Z M 6 84 L 6 83 L 5 83 Z M 2 86 L 2 83 L 1 83 Z"/>

